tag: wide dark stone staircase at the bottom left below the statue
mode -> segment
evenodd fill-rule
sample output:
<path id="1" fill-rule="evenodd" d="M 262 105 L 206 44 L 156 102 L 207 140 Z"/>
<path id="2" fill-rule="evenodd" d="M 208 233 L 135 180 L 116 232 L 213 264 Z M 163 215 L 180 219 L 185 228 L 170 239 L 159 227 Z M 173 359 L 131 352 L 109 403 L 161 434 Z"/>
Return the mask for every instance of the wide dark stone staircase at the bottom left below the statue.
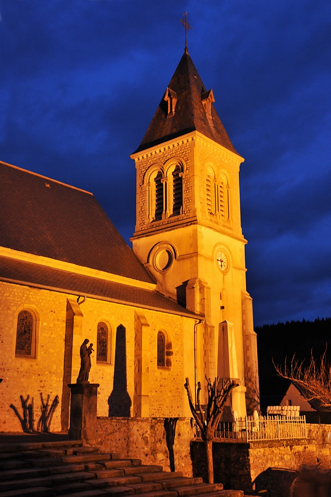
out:
<path id="1" fill-rule="evenodd" d="M 0 444 L 0 497 L 243 497 L 201 478 L 119 459 L 81 441 Z"/>

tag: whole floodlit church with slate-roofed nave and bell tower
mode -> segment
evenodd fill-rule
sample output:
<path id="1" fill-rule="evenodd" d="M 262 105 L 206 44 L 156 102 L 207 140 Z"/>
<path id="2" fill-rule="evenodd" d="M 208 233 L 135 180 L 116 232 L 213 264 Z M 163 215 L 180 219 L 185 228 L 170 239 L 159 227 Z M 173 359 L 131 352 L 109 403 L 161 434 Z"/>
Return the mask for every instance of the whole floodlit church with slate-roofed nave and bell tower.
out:
<path id="1" fill-rule="evenodd" d="M 0 162 L 0 431 L 21 431 L 20 396 L 37 417 L 40 394 L 68 430 L 86 338 L 98 416 L 190 417 L 186 377 L 202 402 L 206 377 L 236 379 L 232 411 L 258 409 L 244 159 L 214 101 L 185 49 L 131 155 L 132 249 L 92 193 Z"/>

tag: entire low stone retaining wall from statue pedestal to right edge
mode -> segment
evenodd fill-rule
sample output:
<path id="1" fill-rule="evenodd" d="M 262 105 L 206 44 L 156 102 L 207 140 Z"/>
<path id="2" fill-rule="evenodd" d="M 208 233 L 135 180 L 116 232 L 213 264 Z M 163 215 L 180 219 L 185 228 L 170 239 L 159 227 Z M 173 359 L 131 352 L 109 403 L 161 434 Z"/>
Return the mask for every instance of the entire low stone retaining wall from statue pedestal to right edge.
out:
<path id="1" fill-rule="evenodd" d="M 225 489 L 264 497 L 288 497 L 303 467 L 331 469 L 331 425 L 307 424 L 307 440 L 213 444 L 214 477 Z M 98 417 L 96 445 L 121 458 L 141 459 L 170 471 L 171 443 L 165 418 Z M 169 452 L 170 448 L 170 452 Z M 172 469 L 207 481 L 204 444 L 193 439 L 190 418 L 178 418 Z M 192 471 L 193 470 L 193 471 Z"/>

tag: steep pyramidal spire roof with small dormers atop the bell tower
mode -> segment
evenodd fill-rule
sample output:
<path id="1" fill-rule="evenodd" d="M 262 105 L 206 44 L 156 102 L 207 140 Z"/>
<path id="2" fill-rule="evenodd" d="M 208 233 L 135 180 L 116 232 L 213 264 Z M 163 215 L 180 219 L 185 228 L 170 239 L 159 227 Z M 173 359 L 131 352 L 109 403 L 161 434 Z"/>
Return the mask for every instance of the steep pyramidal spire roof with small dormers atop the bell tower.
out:
<path id="1" fill-rule="evenodd" d="M 168 88 L 177 99 L 171 117 L 167 114 L 168 104 L 165 101 L 165 98 L 168 99 Z M 208 97 L 210 91 L 206 91 L 188 53 L 185 52 L 180 59 L 168 88 L 136 152 L 195 130 L 237 154 L 212 103 L 211 116 L 207 116 L 201 97 Z"/>

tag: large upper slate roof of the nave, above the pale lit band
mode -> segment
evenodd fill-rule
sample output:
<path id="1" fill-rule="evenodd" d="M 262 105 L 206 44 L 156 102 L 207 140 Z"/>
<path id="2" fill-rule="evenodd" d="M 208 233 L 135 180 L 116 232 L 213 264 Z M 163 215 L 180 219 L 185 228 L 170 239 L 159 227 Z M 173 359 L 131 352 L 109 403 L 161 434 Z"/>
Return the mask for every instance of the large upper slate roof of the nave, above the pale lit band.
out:
<path id="1" fill-rule="evenodd" d="M 91 193 L 3 162 L 0 246 L 155 283 Z"/>

